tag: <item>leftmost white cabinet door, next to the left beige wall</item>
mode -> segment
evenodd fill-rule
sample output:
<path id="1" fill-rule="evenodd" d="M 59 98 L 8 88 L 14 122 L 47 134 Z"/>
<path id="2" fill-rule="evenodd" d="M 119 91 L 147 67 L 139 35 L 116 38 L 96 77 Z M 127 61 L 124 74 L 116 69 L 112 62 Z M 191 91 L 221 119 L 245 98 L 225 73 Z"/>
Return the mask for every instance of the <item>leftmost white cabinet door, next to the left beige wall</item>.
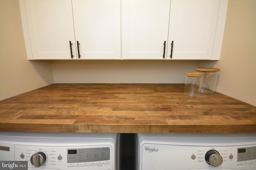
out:
<path id="1" fill-rule="evenodd" d="M 20 0 L 28 59 L 76 59 L 71 0 Z"/>

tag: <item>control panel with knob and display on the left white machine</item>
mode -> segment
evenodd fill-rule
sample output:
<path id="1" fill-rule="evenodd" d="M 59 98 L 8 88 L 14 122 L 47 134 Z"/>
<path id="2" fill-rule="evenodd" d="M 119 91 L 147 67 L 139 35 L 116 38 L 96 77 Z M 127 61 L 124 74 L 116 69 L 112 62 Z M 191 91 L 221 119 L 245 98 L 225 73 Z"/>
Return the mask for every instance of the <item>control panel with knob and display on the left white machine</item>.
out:
<path id="1" fill-rule="evenodd" d="M 113 170 L 112 147 L 99 146 L 26 146 L 13 145 L 17 161 L 28 161 L 28 168 L 55 170 Z"/>

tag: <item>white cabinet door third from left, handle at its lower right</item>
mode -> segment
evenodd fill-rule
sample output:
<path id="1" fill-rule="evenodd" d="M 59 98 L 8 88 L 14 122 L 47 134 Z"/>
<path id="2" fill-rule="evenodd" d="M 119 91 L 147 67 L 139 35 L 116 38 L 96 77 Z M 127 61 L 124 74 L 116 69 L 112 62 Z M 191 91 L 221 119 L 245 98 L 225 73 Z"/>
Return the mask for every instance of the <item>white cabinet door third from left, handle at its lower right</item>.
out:
<path id="1" fill-rule="evenodd" d="M 166 59 L 170 0 L 122 0 L 121 10 L 122 59 Z"/>

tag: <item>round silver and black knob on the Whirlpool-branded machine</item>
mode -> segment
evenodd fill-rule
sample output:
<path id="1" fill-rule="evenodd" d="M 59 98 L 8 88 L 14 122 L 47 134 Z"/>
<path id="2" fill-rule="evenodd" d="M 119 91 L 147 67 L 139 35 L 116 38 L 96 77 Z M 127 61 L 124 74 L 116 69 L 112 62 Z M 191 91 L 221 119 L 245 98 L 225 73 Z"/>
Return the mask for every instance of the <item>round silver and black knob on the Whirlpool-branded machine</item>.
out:
<path id="1" fill-rule="evenodd" d="M 222 157 L 220 156 L 219 152 L 216 150 L 209 150 L 205 154 L 205 160 L 208 164 L 214 167 L 218 167 L 222 164 Z"/>

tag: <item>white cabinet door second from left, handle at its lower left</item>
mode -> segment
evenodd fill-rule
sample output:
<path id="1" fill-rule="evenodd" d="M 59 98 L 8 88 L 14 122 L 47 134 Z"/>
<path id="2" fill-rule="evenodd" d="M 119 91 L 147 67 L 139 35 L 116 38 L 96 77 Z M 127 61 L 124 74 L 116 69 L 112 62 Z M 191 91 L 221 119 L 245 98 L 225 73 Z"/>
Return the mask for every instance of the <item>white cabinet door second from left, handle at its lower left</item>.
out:
<path id="1" fill-rule="evenodd" d="M 121 59 L 120 0 L 72 0 L 80 59 Z"/>

